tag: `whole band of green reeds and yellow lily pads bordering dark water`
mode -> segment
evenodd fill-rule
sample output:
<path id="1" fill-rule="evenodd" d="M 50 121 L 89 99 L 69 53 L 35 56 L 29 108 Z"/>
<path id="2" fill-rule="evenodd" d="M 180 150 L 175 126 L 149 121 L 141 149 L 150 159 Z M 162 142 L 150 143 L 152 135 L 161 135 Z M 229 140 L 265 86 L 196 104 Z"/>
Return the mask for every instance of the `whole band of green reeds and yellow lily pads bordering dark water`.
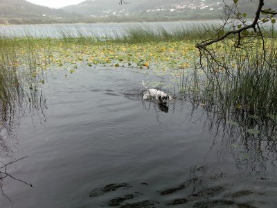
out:
<path id="1" fill-rule="evenodd" d="M 211 26 L 212 27 L 212 26 Z M 195 44 L 216 35 L 212 28 L 195 26 L 167 31 L 134 27 L 123 33 L 98 37 L 91 31 L 73 34 L 60 29 L 60 38 L 0 37 L 0 102 L 2 121 L 22 103 L 44 106 L 39 98 L 44 71 L 79 67 L 128 67 L 175 74 L 178 98 L 217 112 L 233 125 L 244 122 L 249 132 L 277 122 L 277 33 L 264 30 L 261 37 L 247 38 L 243 47 L 236 37 L 211 46 L 215 60 L 201 60 Z M 265 50 L 266 53 L 265 53 Z M 219 66 L 217 61 L 222 64 Z M 93 69 L 93 68 L 92 68 Z M 274 123 L 274 124 L 272 124 Z"/>

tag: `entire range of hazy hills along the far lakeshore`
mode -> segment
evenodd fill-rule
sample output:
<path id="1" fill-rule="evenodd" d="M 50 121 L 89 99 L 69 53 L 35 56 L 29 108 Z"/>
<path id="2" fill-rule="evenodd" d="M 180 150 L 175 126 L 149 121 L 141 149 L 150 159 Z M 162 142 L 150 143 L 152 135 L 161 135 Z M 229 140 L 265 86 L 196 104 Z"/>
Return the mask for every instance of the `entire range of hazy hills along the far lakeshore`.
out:
<path id="1" fill-rule="evenodd" d="M 25 0 L 0 0 L 0 24 L 93 23 L 107 21 L 177 21 L 218 19 L 223 15 L 222 0 L 87 0 L 60 9 L 47 8 Z M 276 0 L 266 6 L 276 8 Z M 232 3 L 233 0 L 225 0 Z M 258 0 L 239 1 L 240 7 L 254 14 Z"/>

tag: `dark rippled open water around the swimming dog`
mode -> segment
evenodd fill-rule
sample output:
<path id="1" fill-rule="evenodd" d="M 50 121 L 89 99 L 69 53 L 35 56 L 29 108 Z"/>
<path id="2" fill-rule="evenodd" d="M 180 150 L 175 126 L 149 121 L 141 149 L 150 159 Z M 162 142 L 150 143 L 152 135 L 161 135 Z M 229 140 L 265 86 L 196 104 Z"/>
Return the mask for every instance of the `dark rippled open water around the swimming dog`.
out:
<path id="1" fill-rule="evenodd" d="M 161 80 L 148 70 L 65 74 L 48 73 L 43 111 L 1 130 L 1 162 L 28 156 L 7 173 L 33 187 L 4 178 L 0 207 L 276 207 L 274 141 L 187 101 L 143 101 L 141 80 Z"/>

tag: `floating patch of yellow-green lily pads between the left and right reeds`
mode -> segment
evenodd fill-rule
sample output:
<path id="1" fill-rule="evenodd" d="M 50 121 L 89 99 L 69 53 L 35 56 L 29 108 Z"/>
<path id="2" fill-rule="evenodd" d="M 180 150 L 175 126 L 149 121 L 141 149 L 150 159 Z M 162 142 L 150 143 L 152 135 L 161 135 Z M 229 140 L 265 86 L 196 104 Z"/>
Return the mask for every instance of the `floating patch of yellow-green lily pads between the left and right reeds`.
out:
<path id="1" fill-rule="evenodd" d="M 44 69 L 78 67 L 129 67 L 166 71 L 190 67 L 197 49 L 193 42 L 73 44 L 55 41 L 35 46 L 38 66 Z M 19 49 L 20 51 L 20 49 Z M 22 49 L 20 53 L 26 51 Z"/>

